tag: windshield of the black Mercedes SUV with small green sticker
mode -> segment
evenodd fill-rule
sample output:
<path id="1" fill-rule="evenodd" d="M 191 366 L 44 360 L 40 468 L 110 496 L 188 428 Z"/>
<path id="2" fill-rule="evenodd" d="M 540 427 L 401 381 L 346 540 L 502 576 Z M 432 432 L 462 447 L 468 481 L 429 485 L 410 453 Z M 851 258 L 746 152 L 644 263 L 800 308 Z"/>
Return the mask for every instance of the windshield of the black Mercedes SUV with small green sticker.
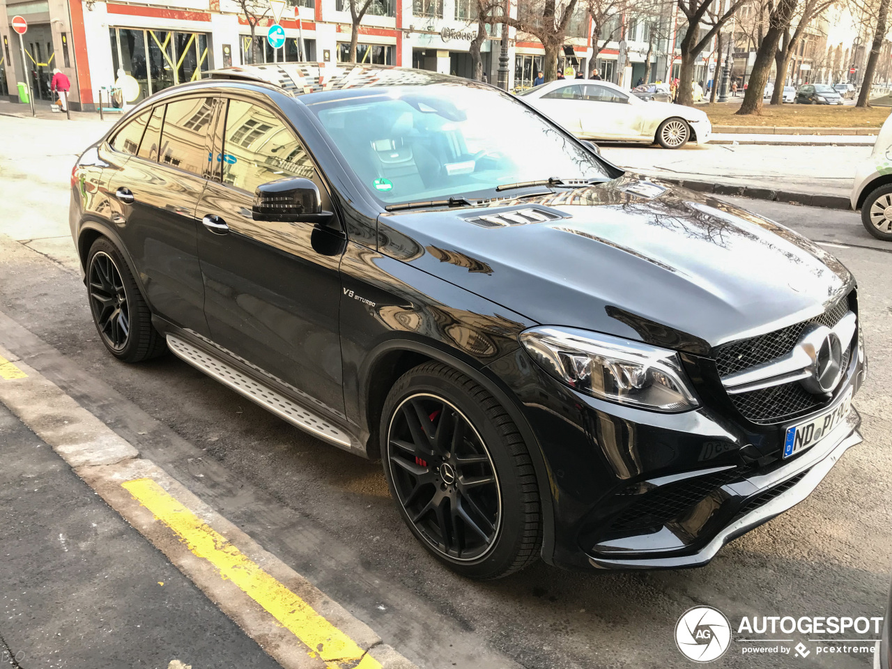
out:
<path id="1" fill-rule="evenodd" d="M 491 197 L 497 186 L 548 178 L 613 178 L 570 136 L 489 87 L 363 93 L 308 107 L 359 180 L 388 204 Z"/>

